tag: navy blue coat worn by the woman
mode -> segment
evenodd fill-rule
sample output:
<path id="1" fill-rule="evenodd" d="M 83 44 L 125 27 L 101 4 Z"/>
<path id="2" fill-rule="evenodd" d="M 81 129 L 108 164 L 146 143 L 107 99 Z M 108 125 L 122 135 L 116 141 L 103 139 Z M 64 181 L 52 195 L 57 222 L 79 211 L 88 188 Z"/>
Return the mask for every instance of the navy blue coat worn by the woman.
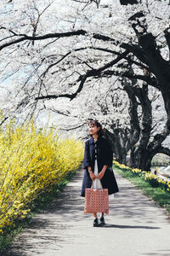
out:
<path id="1" fill-rule="evenodd" d="M 88 166 L 92 167 L 94 172 L 95 161 L 95 144 L 94 137 L 88 139 L 85 143 L 84 151 L 84 176 L 82 180 L 81 196 L 85 196 L 85 189 L 90 188 L 92 185 L 92 179 L 89 176 Z M 104 137 L 98 137 L 97 140 L 97 160 L 98 160 L 98 172 L 101 172 L 103 166 L 107 165 L 104 177 L 101 178 L 103 189 L 108 189 L 109 195 L 119 191 L 114 172 L 112 170 L 113 153 L 110 144 Z"/>

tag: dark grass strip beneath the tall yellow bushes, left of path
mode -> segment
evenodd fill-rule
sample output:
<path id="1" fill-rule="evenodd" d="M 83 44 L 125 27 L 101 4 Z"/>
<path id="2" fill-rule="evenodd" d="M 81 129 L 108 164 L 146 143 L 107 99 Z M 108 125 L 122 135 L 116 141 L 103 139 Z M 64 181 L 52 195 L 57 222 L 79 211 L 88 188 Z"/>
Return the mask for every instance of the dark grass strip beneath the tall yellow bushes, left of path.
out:
<path id="1" fill-rule="evenodd" d="M 30 221 L 37 213 L 43 212 L 48 208 L 48 205 L 59 197 L 59 194 L 65 189 L 67 183 L 70 182 L 71 177 L 75 175 L 77 170 L 70 172 L 59 184 L 55 184 L 53 189 L 48 193 L 42 193 L 37 197 L 35 201 L 31 203 L 31 212 L 28 212 L 26 218 L 19 218 L 14 221 L 14 224 L 8 226 L 3 235 L 0 235 L 0 252 L 4 252 L 9 247 L 14 238 L 20 234 L 20 232 L 29 226 Z"/>

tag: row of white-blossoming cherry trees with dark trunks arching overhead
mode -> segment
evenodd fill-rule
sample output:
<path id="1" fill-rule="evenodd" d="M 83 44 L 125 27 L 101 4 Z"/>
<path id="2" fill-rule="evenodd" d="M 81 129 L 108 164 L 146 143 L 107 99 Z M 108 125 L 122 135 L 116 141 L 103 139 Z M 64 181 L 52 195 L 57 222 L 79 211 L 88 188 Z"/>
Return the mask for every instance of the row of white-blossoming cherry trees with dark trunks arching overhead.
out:
<path id="1" fill-rule="evenodd" d="M 1 76 L 14 78 L 14 113 L 98 116 L 116 158 L 149 171 L 170 155 L 169 11 L 166 0 L 6 3 Z"/>

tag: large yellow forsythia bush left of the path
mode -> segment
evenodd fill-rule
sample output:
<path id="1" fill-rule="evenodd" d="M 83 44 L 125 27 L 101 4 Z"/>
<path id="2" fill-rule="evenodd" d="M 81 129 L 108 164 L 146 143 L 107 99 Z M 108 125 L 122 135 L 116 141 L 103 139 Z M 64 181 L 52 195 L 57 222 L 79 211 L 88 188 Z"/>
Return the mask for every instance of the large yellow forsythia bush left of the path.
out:
<path id="1" fill-rule="evenodd" d="M 83 158 L 83 144 L 60 139 L 30 124 L 15 127 L 10 121 L 0 131 L 0 231 L 15 218 L 24 218 L 29 203 L 49 191 Z"/>

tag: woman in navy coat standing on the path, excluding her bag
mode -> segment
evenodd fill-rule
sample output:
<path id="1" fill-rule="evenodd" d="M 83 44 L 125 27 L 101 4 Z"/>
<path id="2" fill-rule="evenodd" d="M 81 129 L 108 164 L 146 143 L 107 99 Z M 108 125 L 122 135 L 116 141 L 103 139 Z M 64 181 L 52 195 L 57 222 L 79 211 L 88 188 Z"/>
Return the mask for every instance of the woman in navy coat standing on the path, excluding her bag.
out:
<path id="1" fill-rule="evenodd" d="M 118 192 L 116 178 L 112 170 L 113 153 L 110 144 L 103 137 L 102 126 L 97 120 L 90 120 L 89 134 L 91 136 L 85 143 L 84 152 L 84 176 L 82 180 L 81 196 L 85 197 L 85 189 L 108 189 L 109 195 Z M 104 212 L 98 220 L 97 212 L 94 212 L 94 226 L 105 224 Z"/>

